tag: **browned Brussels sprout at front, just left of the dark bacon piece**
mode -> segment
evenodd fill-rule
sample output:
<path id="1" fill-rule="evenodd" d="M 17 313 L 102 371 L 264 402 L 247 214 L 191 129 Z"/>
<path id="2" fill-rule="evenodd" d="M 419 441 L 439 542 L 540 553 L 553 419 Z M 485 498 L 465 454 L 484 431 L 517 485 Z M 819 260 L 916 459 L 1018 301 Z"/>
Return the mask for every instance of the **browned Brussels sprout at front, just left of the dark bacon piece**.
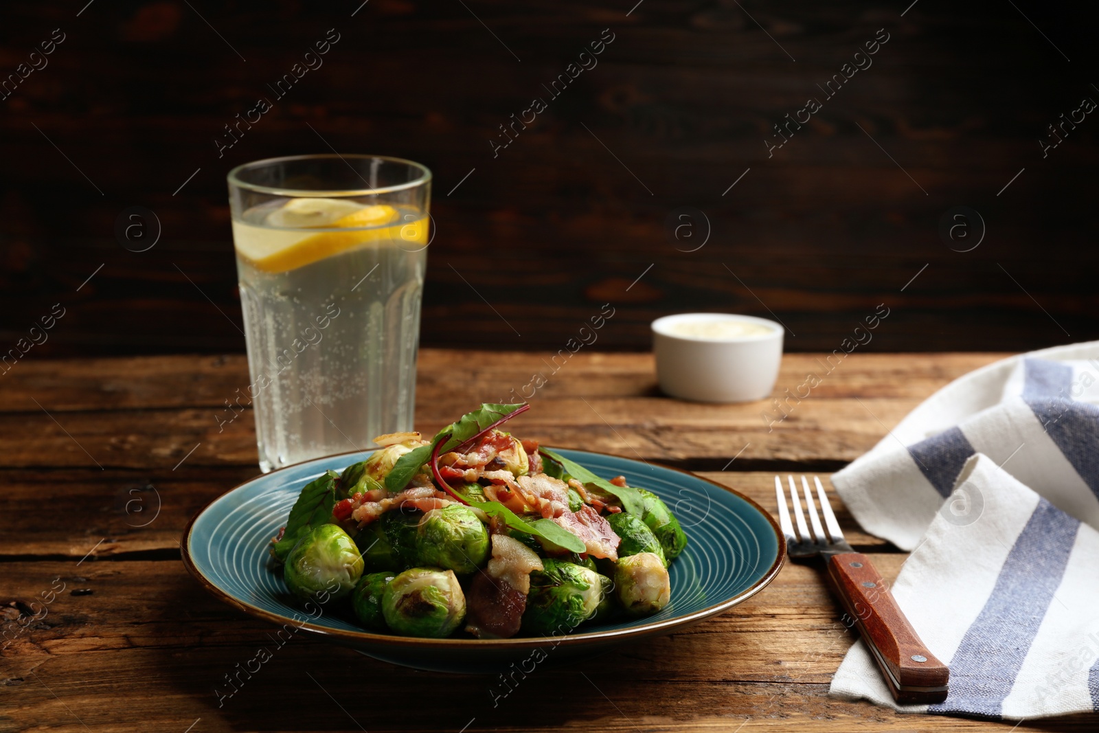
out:
<path id="1" fill-rule="evenodd" d="M 414 567 L 386 586 L 381 614 L 395 633 L 442 638 L 465 620 L 466 597 L 453 570 Z"/>

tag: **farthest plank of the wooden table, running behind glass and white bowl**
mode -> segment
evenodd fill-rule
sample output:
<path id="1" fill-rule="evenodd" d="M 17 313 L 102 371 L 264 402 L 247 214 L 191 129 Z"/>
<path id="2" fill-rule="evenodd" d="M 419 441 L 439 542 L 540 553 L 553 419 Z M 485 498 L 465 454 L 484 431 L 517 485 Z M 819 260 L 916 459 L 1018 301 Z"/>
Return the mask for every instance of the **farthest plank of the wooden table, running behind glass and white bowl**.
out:
<path id="1" fill-rule="evenodd" d="M 595 342 L 599 344 L 598 341 Z M 839 348 L 839 344 L 836 344 Z M 424 348 L 420 352 L 417 382 L 418 420 L 447 420 L 452 404 L 520 398 L 530 390 L 535 374 L 547 378 L 537 398 L 656 397 L 655 365 L 651 354 L 608 354 L 580 349 L 485 352 Z M 814 388 L 815 397 L 857 396 L 922 399 L 966 371 L 1008 354 L 867 354 L 854 352 Z M 806 373 L 823 374 L 826 354 L 786 354 L 776 395 L 795 389 Z M 835 364 L 832 357 L 830 364 Z M 554 369 L 557 373 L 554 374 Z M 247 359 L 241 354 L 221 356 L 142 356 L 79 359 L 27 359 L 3 375 L 0 413 L 52 413 L 166 408 L 224 408 L 225 400 L 247 395 Z M 455 390 L 460 384 L 463 388 Z M 240 390 L 240 391 L 237 391 Z M 446 400 L 440 404 L 440 400 Z M 242 400 L 242 403 L 246 400 Z M 37 402 L 37 404 L 35 404 Z M 675 403 L 662 399 L 654 404 Z M 757 404 L 757 403 L 756 403 Z M 706 409 L 706 406 L 695 406 Z M 742 406 L 743 407 L 743 406 Z M 752 407 L 751 404 L 748 407 Z M 717 409 L 717 408 L 714 408 Z"/>

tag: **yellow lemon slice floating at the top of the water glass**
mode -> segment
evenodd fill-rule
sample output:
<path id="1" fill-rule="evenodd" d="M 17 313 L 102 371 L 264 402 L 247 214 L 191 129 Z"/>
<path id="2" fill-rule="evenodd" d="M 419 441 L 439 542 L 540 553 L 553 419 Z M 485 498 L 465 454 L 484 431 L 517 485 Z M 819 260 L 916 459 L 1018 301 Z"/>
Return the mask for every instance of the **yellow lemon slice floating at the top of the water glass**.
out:
<path id="1" fill-rule="evenodd" d="M 397 209 L 385 204 L 364 207 L 342 199 L 293 199 L 270 212 L 263 226 L 234 221 L 233 241 L 241 256 L 257 269 L 287 273 L 367 243 L 391 242 L 404 246 L 426 243 L 424 220 L 411 223 L 400 220 Z M 302 229 L 322 231 L 302 237 Z"/>

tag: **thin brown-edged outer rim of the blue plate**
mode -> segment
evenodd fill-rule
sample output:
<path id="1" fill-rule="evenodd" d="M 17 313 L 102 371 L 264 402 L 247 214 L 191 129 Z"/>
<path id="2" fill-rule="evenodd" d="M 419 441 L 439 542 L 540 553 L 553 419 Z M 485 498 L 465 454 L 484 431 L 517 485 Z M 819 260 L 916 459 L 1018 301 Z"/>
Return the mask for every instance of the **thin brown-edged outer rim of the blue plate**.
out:
<path id="1" fill-rule="evenodd" d="M 374 451 L 377 448 L 374 448 Z M 633 458 L 628 458 L 625 456 L 618 456 L 612 453 L 582 451 L 579 448 L 564 448 L 564 449 L 575 451 L 577 453 L 589 453 L 592 455 L 607 456 L 609 458 L 619 458 L 621 460 L 637 463 Z M 246 603 L 231 596 L 229 592 L 222 590 L 218 585 L 215 585 L 210 578 L 206 577 L 206 575 L 202 574 L 202 571 L 198 568 L 198 566 L 195 565 L 195 562 L 191 559 L 191 552 L 190 552 L 191 534 L 195 529 L 195 523 L 199 520 L 199 518 L 202 517 L 202 514 L 207 512 L 207 510 L 210 509 L 211 506 L 213 506 L 214 502 L 241 489 L 245 485 L 252 484 L 253 481 L 259 478 L 274 476 L 290 468 L 300 469 L 301 467 L 314 462 L 329 460 L 331 458 L 338 458 L 340 456 L 373 453 L 374 451 L 355 449 L 355 451 L 346 451 L 344 453 L 333 453 L 331 455 L 319 456 L 317 458 L 310 458 L 309 460 L 302 460 L 300 463 L 292 464 L 290 466 L 278 468 L 276 470 L 270 471 L 269 474 L 259 474 L 258 476 L 253 476 L 252 478 L 242 481 L 241 484 L 237 484 L 233 488 L 218 495 L 217 497 L 208 501 L 201 509 L 195 512 L 191 519 L 188 520 L 187 526 L 184 527 L 181 542 L 179 543 L 179 553 L 184 562 L 184 567 L 187 569 L 188 574 L 190 574 L 191 577 L 193 577 L 196 580 L 199 581 L 199 585 L 201 585 L 207 592 L 209 592 L 211 596 L 222 601 L 223 603 L 226 603 L 227 606 L 237 609 L 238 611 L 243 611 L 244 613 L 247 613 L 251 617 L 274 623 L 276 625 L 292 623 L 296 628 L 300 630 L 309 631 L 319 634 L 321 636 L 328 636 L 333 641 L 345 642 L 351 645 L 370 644 L 376 646 L 385 646 L 388 648 L 403 648 L 403 649 L 431 649 L 431 648 L 437 648 L 440 645 L 442 645 L 444 647 L 454 651 L 462 648 L 522 651 L 522 649 L 542 648 L 551 644 L 554 647 L 560 644 L 565 644 L 567 646 L 575 646 L 575 645 L 598 643 L 601 641 L 617 642 L 635 637 L 641 638 L 658 634 L 659 632 L 665 630 L 677 629 L 680 626 L 688 626 L 693 623 L 704 621 L 710 617 L 714 617 L 718 615 L 719 613 L 728 611 L 734 606 L 740 606 L 741 603 L 748 600 L 750 598 L 758 593 L 761 590 L 766 588 L 778 576 L 779 571 L 782 569 L 782 566 L 786 564 L 787 560 L 786 536 L 779 529 L 778 522 L 776 522 L 775 518 L 770 515 L 770 512 L 761 507 L 759 503 L 756 502 L 754 499 L 744 496 L 736 489 L 732 489 L 728 486 L 722 486 L 721 484 L 718 484 L 714 480 L 704 478 L 689 470 L 677 468 L 675 466 L 668 466 L 659 462 L 650 460 L 645 463 L 653 466 L 659 466 L 660 468 L 673 470 L 678 474 L 686 474 L 687 476 L 690 476 L 693 479 L 703 481 L 706 484 L 710 484 L 711 486 L 714 486 L 721 489 L 722 491 L 732 493 L 739 499 L 745 501 L 750 507 L 755 509 L 759 514 L 764 517 L 764 519 L 767 520 L 767 523 L 770 526 L 771 532 L 774 532 L 775 534 L 775 540 L 778 544 L 778 553 L 777 556 L 775 557 L 775 562 L 771 563 L 771 566 L 767 568 L 767 571 L 764 573 L 758 580 L 756 580 L 748 588 L 744 589 L 742 592 L 737 593 L 733 598 L 726 599 L 720 603 L 708 606 L 704 609 L 700 609 L 687 615 L 675 617 L 671 619 L 664 619 L 662 621 L 654 621 L 653 623 L 643 624 L 641 626 L 630 626 L 628 629 L 618 629 L 613 631 L 589 631 L 580 634 L 571 633 L 562 636 L 553 636 L 553 635 L 513 636 L 511 638 L 433 638 L 425 636 L 399 636 L 397 634 L 378 634 L 365 630 L 347 631 L 344 629 L 333 629 L 331 626 L 321 626 L 318 624 L 309 623 L 308 621 L 301 622 L 298 619 L 291 619 L 290 617 L 273 613 L 270 611 L 267 611 L 256 606 L 252 606 L 251 603 Z"/>

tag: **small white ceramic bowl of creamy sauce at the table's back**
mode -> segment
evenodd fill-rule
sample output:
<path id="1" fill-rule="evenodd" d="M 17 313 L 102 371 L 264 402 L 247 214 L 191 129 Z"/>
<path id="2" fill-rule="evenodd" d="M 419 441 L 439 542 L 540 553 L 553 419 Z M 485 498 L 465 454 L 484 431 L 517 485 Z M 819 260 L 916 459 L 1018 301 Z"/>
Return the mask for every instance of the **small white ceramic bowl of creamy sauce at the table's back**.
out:
<path id="1" fill-rule="evenodd" d="M 782 333 L 780 324 L 753 315 L 680 313 L 656 319 L 657 381 L 665 393 L 685 400 L 762 400 L 778 379 Z"/>

